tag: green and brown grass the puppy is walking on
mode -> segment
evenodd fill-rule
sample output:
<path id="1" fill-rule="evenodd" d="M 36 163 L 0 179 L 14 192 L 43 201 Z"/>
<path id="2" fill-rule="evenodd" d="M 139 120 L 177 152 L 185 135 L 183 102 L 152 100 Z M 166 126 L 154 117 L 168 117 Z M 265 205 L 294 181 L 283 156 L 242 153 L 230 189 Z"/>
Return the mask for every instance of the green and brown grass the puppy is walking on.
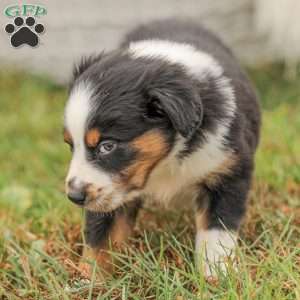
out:
<path id="1" fill-rule="evenodd" d="M 193 264 L 189 213 L 145 210 L 104 285 L 76 281 L 82 211 L 63 193 L 66 90 L 0 73 L 0 298 L 300 299 L 300 77 L 282 71 L 250 70 L 264 122 L 238 270 L 206 282 Z"/>

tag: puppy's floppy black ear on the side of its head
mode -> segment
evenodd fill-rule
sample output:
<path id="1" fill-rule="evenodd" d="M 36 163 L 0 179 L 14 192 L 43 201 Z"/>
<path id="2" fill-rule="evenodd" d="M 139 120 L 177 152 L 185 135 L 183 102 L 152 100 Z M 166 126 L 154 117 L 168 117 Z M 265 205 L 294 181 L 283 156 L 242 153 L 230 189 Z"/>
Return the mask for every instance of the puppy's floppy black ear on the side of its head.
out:
<path id="1" fill-rule="evenodd" d="M 147 94 L 151 114 L 167 116 L 174 129 L 183 137 L 191 137 L 200 127 L 203 118 L 202 101 L 192 83 L 168 82 L 152 87 Z"/>

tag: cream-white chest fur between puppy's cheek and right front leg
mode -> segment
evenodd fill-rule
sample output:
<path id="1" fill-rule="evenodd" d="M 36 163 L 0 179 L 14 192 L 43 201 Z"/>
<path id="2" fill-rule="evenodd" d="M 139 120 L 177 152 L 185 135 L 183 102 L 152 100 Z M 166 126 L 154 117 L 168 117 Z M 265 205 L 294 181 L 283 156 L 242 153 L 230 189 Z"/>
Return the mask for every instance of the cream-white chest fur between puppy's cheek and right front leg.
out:
<path id="1" fill-rule="evenodd" d="M 222 128 L 222 127 L 220 127 Z M 207 134 L 206 143 L 183 160 L 176 157 L 184 148 L 179 138 L 170 155 L 152 171 L 145 187 L 146 195 L 168 205 L 171 200 L 191 201 L 196 196 L 199 184 L 215 172 L 231 156 L 222 147 L 223 131 Z"/>

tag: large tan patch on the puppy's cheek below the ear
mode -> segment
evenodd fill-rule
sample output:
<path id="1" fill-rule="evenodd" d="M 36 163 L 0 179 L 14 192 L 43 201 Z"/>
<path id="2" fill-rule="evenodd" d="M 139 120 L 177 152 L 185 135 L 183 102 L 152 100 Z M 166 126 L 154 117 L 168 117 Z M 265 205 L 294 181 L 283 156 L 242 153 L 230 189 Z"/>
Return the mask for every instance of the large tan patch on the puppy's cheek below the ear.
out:
<path id="1" fill-rule="evenodd" d="M 152 168 L 166 155 L 168 145 L 157 130 L 148 131 L 136 138 L 132 147 L 138 151 L 137 160 L 122 172 L 124 185 L 142 188 Z"/>

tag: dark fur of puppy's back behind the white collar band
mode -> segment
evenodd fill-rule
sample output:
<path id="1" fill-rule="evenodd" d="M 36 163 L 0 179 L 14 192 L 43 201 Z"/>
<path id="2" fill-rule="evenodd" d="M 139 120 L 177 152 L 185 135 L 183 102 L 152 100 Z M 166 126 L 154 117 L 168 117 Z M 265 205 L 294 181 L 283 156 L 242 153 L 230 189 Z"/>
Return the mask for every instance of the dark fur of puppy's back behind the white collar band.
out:
<path id="1" fill-rule="evenodd" d="M 168 19 L 138 26 L 125 36 L 120 46 L 127 48 L 130 43 L 143 40 L 167 40 L 188 44 L 212 56 L 223 68 L 223 74 L 229 78 L 234 89 L 237 110 L 239 111 L 234 126 L 244 128 L 242 130 L 246 132 L 245 138 L 248 147 L 250 147 L 249 150 L 252 152 L 256 149 L 261 123 L 257 95 L 233 52 L 221 39 L 197 23 Z M 234 140 L 233 144 L 245 142 L 241 142 L 239 136 L 235 134 L 231 138 Z"/>

